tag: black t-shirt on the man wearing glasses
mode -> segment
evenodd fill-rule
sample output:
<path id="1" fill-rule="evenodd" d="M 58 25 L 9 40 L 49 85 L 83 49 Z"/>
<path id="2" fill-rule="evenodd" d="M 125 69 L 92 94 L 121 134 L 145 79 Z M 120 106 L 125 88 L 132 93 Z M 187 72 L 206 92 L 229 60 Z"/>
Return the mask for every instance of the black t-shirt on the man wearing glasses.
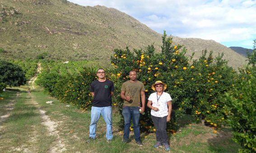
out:
<path id="1" fill-rule="evenodd" d="M 112 106 L 111 91 L 114 92 L 114 83 L 106 79 L 104 82 L 98 80 L 91 84 L 90 92 L 94 92 L 93 106 Z"/>

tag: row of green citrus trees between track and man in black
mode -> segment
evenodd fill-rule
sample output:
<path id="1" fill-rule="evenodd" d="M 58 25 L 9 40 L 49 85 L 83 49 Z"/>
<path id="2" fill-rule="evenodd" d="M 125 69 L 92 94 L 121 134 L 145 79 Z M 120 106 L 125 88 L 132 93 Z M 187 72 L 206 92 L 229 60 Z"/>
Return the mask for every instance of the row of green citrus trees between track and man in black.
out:
<path id="1" fill-rule="evenodd" d="M 91 108 L 90 84 L 96 78 L 96 70 L 85 67 L 88 61 L 57 63 L 41 61 L 42 72 L 36 83 L 63 103 L 73 103 L 78 108 Z"/>

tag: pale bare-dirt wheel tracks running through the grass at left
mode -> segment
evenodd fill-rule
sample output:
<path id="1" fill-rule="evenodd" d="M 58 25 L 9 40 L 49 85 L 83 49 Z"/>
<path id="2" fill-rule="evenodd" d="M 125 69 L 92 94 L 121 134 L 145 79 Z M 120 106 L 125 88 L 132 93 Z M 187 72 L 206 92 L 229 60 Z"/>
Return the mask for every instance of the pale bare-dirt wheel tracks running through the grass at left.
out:
<path id="1" fill-rule="evenodd" d="M 34 107 L 36 107 L 36 112 L 38 114 L 40 114 L 40 117 L 42 118 L 42 122 L 41 124 L 43 126 L 46 127 L 47 129 L 47 133 L 46 136 L 54 136 L 56 139 L 55 141 L 51 142 L 51 146 L 49 148 L 49 150 L 47 151 L 48 153 L 62 153 L 64 151 L 66 151 L 65 148 L 65 140 L 61 138 L 61 132 L 58 129 L 59 124 L 62 123 L 62 121 L 54 121 L 52 120 L 48 115 L 47 112 L 40 107 L 39 103 L 36 101 L 35 97 L 33 96 L 33 94 L 31 92 L 33 92 L 33 90 L 36 89 L 35 87 L 35 81 L 37 79 L 37 74 L 39 74 L 41 72 L 41 64 L 39 63 L 37 65 L 37 73 L 35 76 L 33 76 L 29 81 L 28 81 L 28 86 L 29 89 L 27 91 L 27 96 L 26 98 L 28 99 L 27 101 L 24 102 L 25 105 L 33 105 Z M 20 93 L 18 92 L 16 97 L 19 97 Z M 15 109 L 14 108 L 14 104 L 15 101 L 11 101 L 8 104 L 4 105 L 4 108 L 6 110 L 5 114 L 1 114 L 0 116 L 0 130 L 4 130 L 5 127 L 2 126 L 2 122 L 6 121 L 8 119 L 8 117 L 11 115 L 12 110 Z M 38 141 L 38 132 L 37 132 L 37 128 L 34 127 L 33 132 L 28 134 L 29 137 L 29 142 L 28 144 L 21 144 L 19 146 L 15 146 L 10 148 L 10 150 L 14 151 L 14 152 L 24 152 L 24 153 L 33 153 L 33 152 L 38 152 L 40 150 L 37 150 L 37 148 L 35 147 L 35 142 Z"/>

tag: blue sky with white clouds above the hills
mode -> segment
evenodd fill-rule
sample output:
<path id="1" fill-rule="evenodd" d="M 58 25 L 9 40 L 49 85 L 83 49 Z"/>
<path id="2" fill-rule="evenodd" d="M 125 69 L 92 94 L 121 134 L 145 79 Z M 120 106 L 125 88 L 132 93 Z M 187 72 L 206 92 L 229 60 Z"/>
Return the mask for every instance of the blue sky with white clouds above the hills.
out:
<path id="1" fill-rule="evenodd" d="M 124 12 L 168 36 L 215 40 L 227 47 L 253 48 L 256 0 L 68 0 Z"/>

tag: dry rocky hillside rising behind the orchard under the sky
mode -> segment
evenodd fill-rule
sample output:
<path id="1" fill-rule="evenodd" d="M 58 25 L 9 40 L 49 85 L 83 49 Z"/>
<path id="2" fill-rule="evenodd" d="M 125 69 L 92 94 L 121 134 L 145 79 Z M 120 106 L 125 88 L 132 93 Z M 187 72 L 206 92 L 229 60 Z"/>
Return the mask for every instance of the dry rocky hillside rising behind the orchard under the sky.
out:
<path id="1" fill-rule="evenodd" d="M 80 6 L 67 0 L 1 0 L 0 58 L 109 61 L 113 49 L 144 49 L 154 43 L 161 50 L 161 34 L 135 18 L 104 6 Z M 234 68 L 246 58 L 213 40 L 173 38 L 195 58 L 203 49 L 223 52 Z"/>

